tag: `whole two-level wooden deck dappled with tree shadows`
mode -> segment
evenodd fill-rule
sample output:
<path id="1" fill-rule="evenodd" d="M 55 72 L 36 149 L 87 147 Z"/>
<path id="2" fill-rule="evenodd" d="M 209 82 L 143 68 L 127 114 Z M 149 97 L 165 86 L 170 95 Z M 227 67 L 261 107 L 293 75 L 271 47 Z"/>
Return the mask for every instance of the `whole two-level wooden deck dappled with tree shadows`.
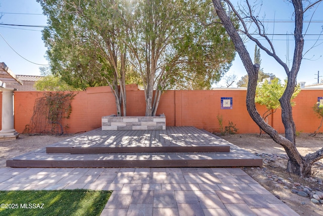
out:
<path id="1" fill-rule="evenodd" d="M 160 131 L 101 128 L 7 160 L 11 167 L 232 167 L 262 159 L 195 127 Z"/>

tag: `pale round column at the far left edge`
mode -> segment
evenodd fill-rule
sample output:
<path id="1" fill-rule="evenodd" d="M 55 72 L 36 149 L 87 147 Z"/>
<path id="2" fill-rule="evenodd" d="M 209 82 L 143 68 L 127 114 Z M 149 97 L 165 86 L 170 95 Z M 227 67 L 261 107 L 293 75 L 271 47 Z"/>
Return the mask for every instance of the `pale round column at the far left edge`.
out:
<path id="1" fill-rule="evenodd" d="M 14 118 L 14 91 L 12 88 L 0 88 L 2 91 L 2 129 L 0 138 L 17 136 Z"/>

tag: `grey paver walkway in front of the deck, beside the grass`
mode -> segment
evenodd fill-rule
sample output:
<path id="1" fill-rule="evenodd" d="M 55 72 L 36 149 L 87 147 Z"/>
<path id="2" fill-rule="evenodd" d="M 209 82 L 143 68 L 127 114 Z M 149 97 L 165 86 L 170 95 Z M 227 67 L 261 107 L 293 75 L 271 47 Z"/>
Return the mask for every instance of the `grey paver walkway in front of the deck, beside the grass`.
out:
<path id="1" fill-rule="evenodd" d="M 0 168 L 0 190 L 113 190 L 101 215 L 298 215 L 239 168 Z"/>

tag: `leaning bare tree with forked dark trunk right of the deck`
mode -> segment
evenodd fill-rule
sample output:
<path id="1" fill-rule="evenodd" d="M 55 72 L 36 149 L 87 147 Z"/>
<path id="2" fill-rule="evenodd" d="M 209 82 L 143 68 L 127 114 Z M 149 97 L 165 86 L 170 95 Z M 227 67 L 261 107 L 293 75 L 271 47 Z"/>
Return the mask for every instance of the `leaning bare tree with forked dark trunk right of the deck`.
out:
<path id="1" fill-rule="evenodd" d="M 285 126 L 286 138 L 279 135 L 278 132 L 272 126 L 268 125 L 257 112 L 254 98 L 255 98 L 255 92 L 256 92 L 256 86 L 257 86 L 257 78 L 258 78 L 257 74 L 258 74 L 259 65 L 258 64 L 253 65 L 250 59 L 250 55 L 247 52 L 243 44 L 243 41 L 237 32 L 237 29 L 234 27 L 230 18 L 227 16 L 226 11 L 223 9 L 221 1 L 212 0 L 212 2 L 219 18 L 222 21 L 222 24 L 224 25 L 228 34 L 230 35 L 235 45 L 236 51 L 238 52 L 249 76 L 247 97 L 246 97 L 246 104 L 247 104 L 247 110 L 249 112 L 249 115 L 266 134 L 270 135 L 270 137 L 276 143 L 284 147 L 289 157 L 288 171 L 293 172 L 294 174 L 297 174 L 299 176 L 311 175 L 311 165 L 313 164 L 313 162 L 323 158 L 323 148 L 312 154 L 308 154 L 305 157 L 299 154 L 295 146 L 296 129 L 295 129 L 295 123 L 292 117 L 292 106 L 290 103 L 291 97 L 294 93 L 296 76 L 301 63 L 303 44 L 304 44 L 303 37 L 302 37 L 302 20 L 303 20 L 302 1 L 301 0 L 292 1 L 295 7 L 295 32 L 294 32 L 295 52 L 294 52 L 294 61 L 293 61 L 293 66 L 291 71 L 288 70 L 288 67 L 276 56 L 274 52 L 271 53 L 269 50 L 266 50 L 263 46 L 261 46 L 260 42 L 257 39 L 252 38 L 252 36 L 250 36 L 246 31 L 246 34 L 248 35 L 248 37 L 253 41 L 255 41 L 258 47 L 265 50 L 268 55 L 273 56 L 273 58 L 275 58 L 284 67 L 288 75 L 288 84 L 286 87 L 286 91 L 284 92 L 282 98 L 280 99 L 281 107 L 282 107 L 282 119 Z M 227 2 L 230 5 L 230 7 L 234 10 L 229 0 L 225 0 L 225 2 Z M 240 21 L 243 22 L 242 18 L 239 17 L 237 12 L 236 11 L 234 12 L 238 16 Z M 250 16 L 252 15 L 250 14 Z"/>

